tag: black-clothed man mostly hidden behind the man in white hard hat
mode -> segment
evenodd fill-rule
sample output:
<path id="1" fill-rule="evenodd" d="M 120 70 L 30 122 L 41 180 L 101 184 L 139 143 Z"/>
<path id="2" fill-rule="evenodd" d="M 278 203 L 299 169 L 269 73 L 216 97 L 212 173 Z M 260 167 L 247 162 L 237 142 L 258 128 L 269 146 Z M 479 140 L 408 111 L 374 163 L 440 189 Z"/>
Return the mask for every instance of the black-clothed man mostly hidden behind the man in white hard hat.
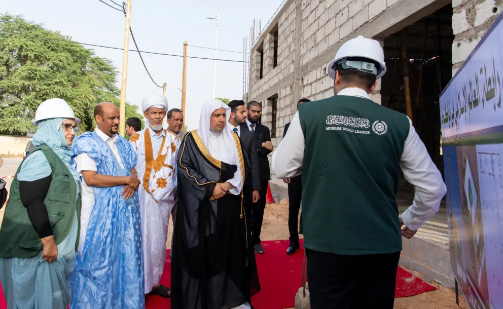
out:
<path id="1" fill-rule="evenodd" d="M 300 99 L 297 106 L 304 102 L 311 102 L 309 99 Z M 284 126 L 283 138 L 288 131 L 290 123 Z M 286 249 L 286 254 L 294 254 L 299 249 L 299 210 L 300 202 L 302 200 L 302 175 L 283 180 L 288 184 L 288 230 L 290 232 L 290 246 Z"/>

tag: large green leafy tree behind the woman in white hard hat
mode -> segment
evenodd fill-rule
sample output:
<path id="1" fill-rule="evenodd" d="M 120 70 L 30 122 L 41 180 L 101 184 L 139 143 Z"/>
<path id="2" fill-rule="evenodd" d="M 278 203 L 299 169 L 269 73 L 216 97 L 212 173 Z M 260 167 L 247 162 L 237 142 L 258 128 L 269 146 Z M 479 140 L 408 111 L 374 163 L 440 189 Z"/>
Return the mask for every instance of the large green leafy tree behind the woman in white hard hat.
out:
<path id="1" fill-rule="evenodd" d="M 0 30 L 70 41 L 19 16 L 0 16 Z M 112 61 L 76 43 L 0 32 L 0 133 L 24 134 L 34 130 L 37 107 L 50 98 L 64 99 L 82 120 L 82 130 L 94 127 L 93 109 L 108 101 L 119 105 Z M 126 105 L 126 118 L 138 117 Z"/>

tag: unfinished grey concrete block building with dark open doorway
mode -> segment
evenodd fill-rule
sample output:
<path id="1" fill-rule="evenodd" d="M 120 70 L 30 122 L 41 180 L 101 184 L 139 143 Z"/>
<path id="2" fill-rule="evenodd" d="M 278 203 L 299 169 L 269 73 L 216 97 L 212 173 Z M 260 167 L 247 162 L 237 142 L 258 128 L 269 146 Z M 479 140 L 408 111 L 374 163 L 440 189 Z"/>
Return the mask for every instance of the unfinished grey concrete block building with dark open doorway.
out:
<path id="1" fill-rule="evenodd" d="M 503 0 L 286 0 L 252 47 L 244 99 L 262 103 L 261 122 L 277 146 L 284 125 L 306 97 L 333 96 L 327 65 L 340 46 L 357 35 L 384 48 L 387 73 L 371 96 L 377 104 L 406 113 L 404 74 L 409 76 L 412 120 L 443 174 L 439 95 L 500 14 Z M 286 185 L 271 175 L 271 188 L 286 198 Z M 400 210 L 413 199 L 405 179 Z M 449 263 L 445 203 L 440 212 L 404 241 L 401 264 L 454 286 Z"/>

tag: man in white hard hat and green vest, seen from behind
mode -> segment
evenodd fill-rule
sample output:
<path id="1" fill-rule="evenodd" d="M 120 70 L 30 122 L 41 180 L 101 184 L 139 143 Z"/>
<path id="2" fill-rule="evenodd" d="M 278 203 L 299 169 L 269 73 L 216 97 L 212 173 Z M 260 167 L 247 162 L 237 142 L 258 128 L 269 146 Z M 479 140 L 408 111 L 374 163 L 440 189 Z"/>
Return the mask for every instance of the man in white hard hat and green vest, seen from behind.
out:
<path id="1" fill-rule="evenodd" d="M 377 41 L 349 40 L 327 70 L 335 96 L 299 105 L 272 170 L 302 173 L 311 308 L 392 308 L 401 235 L 438 211 L 446 187 L 411 120 L 369 99 L 386 72 Z M 416 188 L 401 217 L 400 168 Z"/>

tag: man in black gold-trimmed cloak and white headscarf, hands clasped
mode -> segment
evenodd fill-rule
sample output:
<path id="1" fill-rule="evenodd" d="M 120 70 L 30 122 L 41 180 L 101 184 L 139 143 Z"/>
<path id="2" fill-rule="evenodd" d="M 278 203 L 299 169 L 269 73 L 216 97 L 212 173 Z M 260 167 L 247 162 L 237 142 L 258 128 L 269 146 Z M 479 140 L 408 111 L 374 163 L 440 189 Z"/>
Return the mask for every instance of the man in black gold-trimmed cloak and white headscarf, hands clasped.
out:
<path id="1" fill-rule="evenodd" d="M 178 209 L 171 264 L 174 309 L 251 308 L 260 291 L 242 188 L 249 160 L 227 126 L 230 107 L 205 103 L 199 129 L 178 152 Z"/>

